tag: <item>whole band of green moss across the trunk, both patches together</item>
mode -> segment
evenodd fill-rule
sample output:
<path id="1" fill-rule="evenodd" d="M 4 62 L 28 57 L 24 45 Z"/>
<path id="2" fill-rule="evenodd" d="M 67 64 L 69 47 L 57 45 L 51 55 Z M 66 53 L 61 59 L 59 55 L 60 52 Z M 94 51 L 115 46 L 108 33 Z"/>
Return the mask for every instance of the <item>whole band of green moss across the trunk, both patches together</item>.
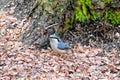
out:
<path id="1" fill-rule="evenodd" d="M 100 0 L 97 4 L 103 10 L 95 10 L 91 0 L 77 0 L 74 7 L 75 20 L 84 23 L 90 19 L 100 19 L 113 25 L 120 24 L 120 11 L 106 7 L 106 4 L 111 6 L 111 0 Z"/>

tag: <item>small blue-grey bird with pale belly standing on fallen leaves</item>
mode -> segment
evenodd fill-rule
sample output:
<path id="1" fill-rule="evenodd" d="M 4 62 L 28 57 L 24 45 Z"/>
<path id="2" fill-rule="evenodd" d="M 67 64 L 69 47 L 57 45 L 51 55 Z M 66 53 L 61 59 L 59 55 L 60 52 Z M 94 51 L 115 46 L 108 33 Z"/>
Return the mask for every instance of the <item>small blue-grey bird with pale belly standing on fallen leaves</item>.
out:
<path id="1" fill-rule="evenodd" d="M 54 52 L 68 53 L 70 48 L 55 34 L 50 35 L 50 45 Z"/>

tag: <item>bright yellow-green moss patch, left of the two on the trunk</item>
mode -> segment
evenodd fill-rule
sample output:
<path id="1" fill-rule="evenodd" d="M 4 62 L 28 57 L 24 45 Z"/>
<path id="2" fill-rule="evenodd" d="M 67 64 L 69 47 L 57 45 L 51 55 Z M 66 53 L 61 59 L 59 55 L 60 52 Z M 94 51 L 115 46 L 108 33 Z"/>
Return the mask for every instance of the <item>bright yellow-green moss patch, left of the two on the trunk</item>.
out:
<path id="1" fill-rule="evenodd" d="M 100 12 L 93 10 L 91 0 L 77 0 L 78 4 L 74 8 L 75 20 L 84 23 L 85 21 L 92 19 L 97 20 L 100 16 Z"/>

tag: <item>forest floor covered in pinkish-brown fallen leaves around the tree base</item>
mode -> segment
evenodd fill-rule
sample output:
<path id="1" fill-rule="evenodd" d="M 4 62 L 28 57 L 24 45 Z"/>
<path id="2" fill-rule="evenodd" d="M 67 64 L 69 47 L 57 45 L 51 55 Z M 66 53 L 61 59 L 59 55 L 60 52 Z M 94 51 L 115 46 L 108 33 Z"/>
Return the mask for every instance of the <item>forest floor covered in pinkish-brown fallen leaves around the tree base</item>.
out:
<path id="1" fill-rule="evenodd" d="M 105 49 L 76 43 L 74 56 L 65 58 L 50 48 L 38 50 L 18 41 L 29 21 L 14 11 L 0 10 L 0 80 L 120 80 L 119 45 L 106 50 L 109 43 Z"/>

